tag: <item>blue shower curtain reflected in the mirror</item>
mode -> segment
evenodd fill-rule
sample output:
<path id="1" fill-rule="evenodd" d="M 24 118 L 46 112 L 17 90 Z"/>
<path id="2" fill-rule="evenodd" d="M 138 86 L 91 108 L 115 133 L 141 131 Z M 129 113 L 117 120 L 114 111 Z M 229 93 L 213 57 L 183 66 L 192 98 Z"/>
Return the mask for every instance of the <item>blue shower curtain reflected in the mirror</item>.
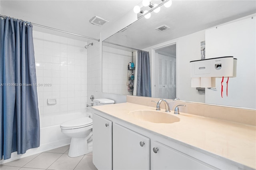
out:
<path id="1" fill-rule="evenodd" d="M 136 95 L 151 97 L 149 53 L 142 50 L 138 50 Z"/>

